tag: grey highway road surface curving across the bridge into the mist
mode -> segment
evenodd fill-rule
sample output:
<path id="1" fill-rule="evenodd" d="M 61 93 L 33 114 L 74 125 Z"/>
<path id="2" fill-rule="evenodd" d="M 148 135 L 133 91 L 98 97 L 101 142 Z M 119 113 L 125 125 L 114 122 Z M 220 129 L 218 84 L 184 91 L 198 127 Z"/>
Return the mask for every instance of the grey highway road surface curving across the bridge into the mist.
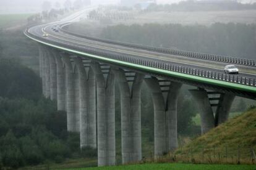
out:
<path id="1" fill-rule="evenodd" d="M 69 25 L 72 22 L 79 21 L 82 15 L 86 14 L 86 12 L 92 9 L 93 7 L 82 10 L 58 22 L 33 26 L 32 28 L 28 28 L 28 30 L 25 31 L 25 34 L 33 36 L 34 39 L 38 39 L 42 42 L 57 44 L 58 46 L 63 46 L 65 48 L 72 49 L 73 51 L 103 51 L 109 54 L 129 56 L 133 59 L 142 59 L 169 65 L 177 65 L 178 67 L 191 68 L 195 71 L 204 70 L 207 71 L 208 74 L 211 74 L 212 72 L 215 73 L 215 75 L 223 75 L 223 69 L 225 65 L 234 65 L 234 63 L 195 59 L 182 55 L 172 55 L 163 52 L 123 46 L 119 45 L 118 43 L 113 44 L 103 41 L 96 41 L 84 38 L 83 36 L 70 34 L 68 31 L 65 30 L 66 25 Z M 53 28 L 58 29 L 58 31 L 54 31 Z M 43 34 L 48 34 L 48 36 L 43 36 Z M 237 65 L 237 67 L 239 68 L 240 73 L 239 75 L 230 76 L 231 79 L 243 79 L 243 81 L 244 79 L 245 81 L 246 79 L 250 79 L 249 84 L 246 82 L 241 83 L 245 86 L 252 86 L 255 90 L 256 66 Z"/>

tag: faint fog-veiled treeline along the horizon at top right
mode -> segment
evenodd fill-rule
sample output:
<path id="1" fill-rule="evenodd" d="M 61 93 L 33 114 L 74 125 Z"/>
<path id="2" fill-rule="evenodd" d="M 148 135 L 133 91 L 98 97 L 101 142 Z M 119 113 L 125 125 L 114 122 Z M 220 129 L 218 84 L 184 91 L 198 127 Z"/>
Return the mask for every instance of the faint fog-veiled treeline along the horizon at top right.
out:
<path id="1" fill-rule="evenodd" d="M 242 4 L 236 1 L 181 1 L 178 4 L 151 4 L 145 12 L 156 11 L 220 11 L 220 10 L 255 10 L 256 3 Z"/>

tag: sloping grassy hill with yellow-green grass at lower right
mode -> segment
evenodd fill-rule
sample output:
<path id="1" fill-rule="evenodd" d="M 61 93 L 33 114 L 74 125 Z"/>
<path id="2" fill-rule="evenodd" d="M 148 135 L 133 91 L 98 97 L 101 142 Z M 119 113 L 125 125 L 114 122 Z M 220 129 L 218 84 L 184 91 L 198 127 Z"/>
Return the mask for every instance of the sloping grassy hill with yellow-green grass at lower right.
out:
<path id="1" fill-rule="evenodd" d="M 202 163 L 250 163 L 256 151 L 256 108 L 178 148 L 176 158 Z"/>

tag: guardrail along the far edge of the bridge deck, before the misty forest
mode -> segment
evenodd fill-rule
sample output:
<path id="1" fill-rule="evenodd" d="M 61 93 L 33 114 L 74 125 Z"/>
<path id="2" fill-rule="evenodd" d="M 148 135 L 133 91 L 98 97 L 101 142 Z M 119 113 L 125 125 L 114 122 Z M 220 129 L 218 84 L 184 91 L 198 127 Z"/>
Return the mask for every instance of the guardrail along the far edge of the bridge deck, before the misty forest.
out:
<path id="1" fill-rule="evenodd" d="M 174 50 L 174 49 L 166 49 L 166 48 L 162 48 L 162 47 L 143 46 L 141 44 L 132 44 L 132 43 L 128 43 L 128 42 L 113 41 L 113 40 L 109 40 L 109 39 L 93 38 L 91 36 L 85 36 L 82 34 L 77 34 L 77 33 L 72 33 L 70 31 L 67 31 L 63 28 L 64 26 L 67 26 L 67 24 L 63 24 L 63 25 L 59 26 L 59 29 L 61 31 L 63 31 L 64 33 L 67 33 L 67 34 L 70 34 L 73 36 L 79 36 L 81 38 L 90 39 L 93 41 L 100 41 L 100 42 L 106 42 L 109 44 L 115 44 L 115 45 L 119 45 L 119 46 L 132 47 L 135 49 L 143 49 L 143 50 L 147 50 L 147 51 L 160 52 L 163 54 L 179 55 L 182 57 L 190 57 L 190 58 L 194 58 L 194 59 L 211 60 L 211 61 L 215 61 L 215 62 L 223 62 L 223 63 L 231 63 L 231 64 L 236 64 L 236 65 L 245 65 L 245 66 L 249 66 L 249 67 L 256 67 L 256 60 L 239 59 L 239 58 L 227 57 L 227 56 L 221 56 L 221 55 L 180 51 L 180 50 Z"/>

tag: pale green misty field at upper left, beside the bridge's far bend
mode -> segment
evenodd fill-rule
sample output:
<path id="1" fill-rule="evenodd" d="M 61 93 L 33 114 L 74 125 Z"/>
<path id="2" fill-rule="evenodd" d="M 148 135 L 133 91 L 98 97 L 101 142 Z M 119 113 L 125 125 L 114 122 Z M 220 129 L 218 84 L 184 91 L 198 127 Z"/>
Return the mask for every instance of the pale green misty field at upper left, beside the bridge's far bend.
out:
<path id="1" fill-rule="evenodd" d="M 32 14 L 2 14 L 0 15 L 0 28 L 9 28 L 27 23 L 27 18 L 30 15 Z"/>

